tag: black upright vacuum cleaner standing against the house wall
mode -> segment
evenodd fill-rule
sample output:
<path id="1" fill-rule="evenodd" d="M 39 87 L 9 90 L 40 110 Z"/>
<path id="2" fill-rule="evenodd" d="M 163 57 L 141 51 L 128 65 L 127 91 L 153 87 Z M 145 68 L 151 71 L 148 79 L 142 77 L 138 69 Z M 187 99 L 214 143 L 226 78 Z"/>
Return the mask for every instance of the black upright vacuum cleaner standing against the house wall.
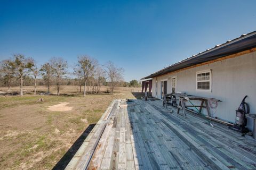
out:
<path id="1" fill-rule="evenodd" d="M 245 116 L 245 114 L 250 113 L 250 107 L 249 105 L 245 102 L 245 98 L 247 96 L 245 96 L 240 104 L 240 106 L 238 107 L 237 111 L 236 111 L 236 122 L 233 126 L 229 126 L 229 129 L 235 130 L 237 132 L 241 132 L 241 133 L 247 133 L 249 132 L 249 130 L 247 128 L 245 128 L 246 124 L 247 124 L 247 118 Z"/>

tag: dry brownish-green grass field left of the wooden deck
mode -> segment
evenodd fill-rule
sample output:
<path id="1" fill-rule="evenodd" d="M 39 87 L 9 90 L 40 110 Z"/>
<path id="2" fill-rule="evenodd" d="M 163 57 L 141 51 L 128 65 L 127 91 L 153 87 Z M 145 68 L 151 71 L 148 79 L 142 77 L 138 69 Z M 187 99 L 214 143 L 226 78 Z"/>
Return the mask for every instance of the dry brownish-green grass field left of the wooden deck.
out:
<path id="1" fill-rule="evenodd" d="M 29 95 L 33 87 L 24 89 L 25 96 L 0 97 L 0 169 L 62 169 L 111 101 L 134 98 L 131 92 L 140 90 L 116 88 L 114 95 L 102 92 L 83 97 L 75 86 L 62 86 L 61 96 Z M 37 89 L 46 92 L 44 86 Z M 61 109 L 71 110 L 50 111 L 49 106 L 59 103 L 66 104 Z"/>

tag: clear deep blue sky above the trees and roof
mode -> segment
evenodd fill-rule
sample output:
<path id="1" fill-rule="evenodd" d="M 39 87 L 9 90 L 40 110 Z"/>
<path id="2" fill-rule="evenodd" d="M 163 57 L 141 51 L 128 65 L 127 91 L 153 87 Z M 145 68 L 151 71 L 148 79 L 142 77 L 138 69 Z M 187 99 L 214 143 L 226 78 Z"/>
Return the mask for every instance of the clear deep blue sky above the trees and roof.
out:
<path id="1" fill-rule="evenodd" d="M 126 81 L 256 30 L 256 1 L 3 1 L 0 59 L 20 53 L 74 66 L 89 55 Z"/>

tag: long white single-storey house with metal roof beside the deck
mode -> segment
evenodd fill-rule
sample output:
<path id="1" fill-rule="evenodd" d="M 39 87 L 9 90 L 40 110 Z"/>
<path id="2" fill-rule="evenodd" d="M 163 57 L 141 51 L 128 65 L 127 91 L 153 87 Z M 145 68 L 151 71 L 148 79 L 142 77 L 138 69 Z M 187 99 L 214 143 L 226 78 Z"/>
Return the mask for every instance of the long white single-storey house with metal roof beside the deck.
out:
<path id="1" fill-rule="evenodd" d="M 152 96 L 174 91 L 222 100 L 213 117 L 235 122 L 243 97 L 256 114 L 256 31 L 229 40 L 143 78 L 152 79 Z M 205 113 L 205 111 L 203 111 Z M 247 127 L 252 129 L 252 120 Z"/>

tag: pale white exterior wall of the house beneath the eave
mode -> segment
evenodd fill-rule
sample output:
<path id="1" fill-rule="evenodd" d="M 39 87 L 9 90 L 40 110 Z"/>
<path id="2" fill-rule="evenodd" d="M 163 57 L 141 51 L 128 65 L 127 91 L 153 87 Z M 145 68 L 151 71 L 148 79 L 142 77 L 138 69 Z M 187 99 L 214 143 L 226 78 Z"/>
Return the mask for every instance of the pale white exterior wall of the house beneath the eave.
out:
<path id="1" fill-rule="evenodd" d="M 212 72 L 212 91 L 197 91 L 196 72 L 209 69 Z M 234 123 L 235 111 L 245 95 L 248 95 L 245 101 L 250 105 L 250 113 L 256 114 L 256 52 L 153 78 L 153 96 L 161 98 L 161 80 L 164 79 L 167 79 L 167 93 L 171 93 L 171 78 L 174 76 L 177 77 L 175 91 L 222 100 L 213 116 Z M 252 129 L 251 120 L 247 126 Z"/>

